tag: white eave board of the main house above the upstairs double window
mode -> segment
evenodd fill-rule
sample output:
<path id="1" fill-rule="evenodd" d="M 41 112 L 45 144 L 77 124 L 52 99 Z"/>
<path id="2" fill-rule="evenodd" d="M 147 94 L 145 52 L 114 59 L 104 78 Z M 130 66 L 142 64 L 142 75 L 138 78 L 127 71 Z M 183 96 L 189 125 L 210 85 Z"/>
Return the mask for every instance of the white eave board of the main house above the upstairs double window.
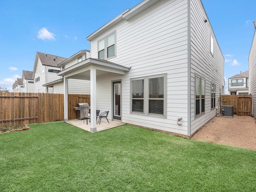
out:
<path id="1" fill-rule="evenodd" d="M 122 12 L 120 15 L 118 15 L 116 18 L 112 19 L 110 22 L 106 23 L 104 26 L 96 30 L 94 33 L 90 34 L 90 36 L 86 37 L 86 40 L 90 41 L 94 39 L 99 34 L 105 32 L 108 28 L 114 26 L 115 24 L 119 23 L 121 20 L 123 20 L 122 16 L 126 12 L 128 12 L 130 9 L 126 9 L 124 12 Z"/>

